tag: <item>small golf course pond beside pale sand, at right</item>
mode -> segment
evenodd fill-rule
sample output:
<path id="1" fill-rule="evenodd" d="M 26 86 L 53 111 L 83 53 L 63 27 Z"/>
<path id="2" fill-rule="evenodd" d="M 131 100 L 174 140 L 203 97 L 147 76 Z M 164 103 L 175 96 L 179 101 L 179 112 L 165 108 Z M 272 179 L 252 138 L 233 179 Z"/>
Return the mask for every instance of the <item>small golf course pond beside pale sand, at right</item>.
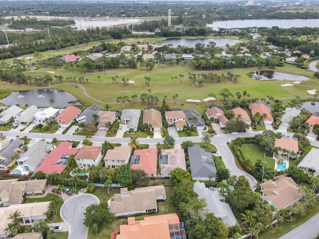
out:
<path id="1" fill-rule="evenodd" d="M 288 81 L 307 81 L 306 76 L 293 75 L 288 73 L 282 73 L 278 71 L 254 71 L 251 74 L 251 78 L 259 81 L 274 81 L 274 80 L 288 80 Z"/>

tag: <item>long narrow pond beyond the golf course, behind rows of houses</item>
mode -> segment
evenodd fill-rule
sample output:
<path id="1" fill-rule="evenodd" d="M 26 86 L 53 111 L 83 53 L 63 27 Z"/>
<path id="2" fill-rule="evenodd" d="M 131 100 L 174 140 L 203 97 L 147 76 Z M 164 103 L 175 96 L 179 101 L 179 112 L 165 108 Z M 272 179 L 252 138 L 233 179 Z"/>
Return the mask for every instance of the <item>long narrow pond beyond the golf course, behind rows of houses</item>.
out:
<path id="1" fill-rule="evenodd" d="M 163 45 L 171 44 L 174 47 L 177 46 L 195 46 L 197 42 L 203 43 L 206 46 L 209 44 L 210 41 L 213 41 L 216 43 L 216 46 L 225 46 L 227 44 L 229 45 L 235 45 L 237 42 L 240 42 L 238 40 L 234 39 L 228 39 L 228 38 L 222 38 L 222 39 L 215 39 L 215 38 L 197 38 L 197 39 L 184 39 L 184 38 L 171 38 L 166 39 L 158 44 L 155 44 L 154 47 L 160 47 Z"/>

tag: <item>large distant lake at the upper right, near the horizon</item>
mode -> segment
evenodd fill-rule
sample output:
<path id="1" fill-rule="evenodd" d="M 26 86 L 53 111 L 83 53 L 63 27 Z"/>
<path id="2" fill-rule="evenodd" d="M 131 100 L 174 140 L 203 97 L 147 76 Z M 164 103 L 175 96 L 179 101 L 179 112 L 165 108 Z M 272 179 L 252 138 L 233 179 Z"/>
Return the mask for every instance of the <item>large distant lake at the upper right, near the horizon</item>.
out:
<path id="1" fill-rule="evenodd" d="M 252 19 L 252 20 L 227 20 L 227 21 L 215 21 L 210 24 L 206 24 L 212 28 L 244 28 L 244 27 L 273 27 L 278 26 L 280 28 L 290 27 L 318 27 L 319 19 Z"/>

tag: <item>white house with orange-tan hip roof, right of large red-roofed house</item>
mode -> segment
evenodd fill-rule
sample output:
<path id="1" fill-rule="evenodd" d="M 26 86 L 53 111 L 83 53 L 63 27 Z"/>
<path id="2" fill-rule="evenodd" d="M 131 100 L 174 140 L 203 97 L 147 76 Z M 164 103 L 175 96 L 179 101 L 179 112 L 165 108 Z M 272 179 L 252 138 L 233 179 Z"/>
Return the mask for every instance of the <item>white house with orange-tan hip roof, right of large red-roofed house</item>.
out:
<path id="1" fill-rule="evenodd" d="M 88 168 L 90 166 L 98 166 L 102 157 L 101 147 L 83 145 L 76 154 L 75 159 L 80 168 Z"/>

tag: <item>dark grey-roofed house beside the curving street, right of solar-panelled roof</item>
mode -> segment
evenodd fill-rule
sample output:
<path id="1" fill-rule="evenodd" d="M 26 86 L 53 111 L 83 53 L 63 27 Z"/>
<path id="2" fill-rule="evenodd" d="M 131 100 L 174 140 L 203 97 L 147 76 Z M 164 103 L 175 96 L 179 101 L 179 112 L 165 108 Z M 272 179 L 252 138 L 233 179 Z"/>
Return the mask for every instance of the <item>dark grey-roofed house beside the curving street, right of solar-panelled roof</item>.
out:
<path id="1" fill-rule="evenodd" d="M 216 178 L 216 167 L 213 156 L 200 148 L 198 144 L 187 147 L 191 176 L 194 180 L 210 180 L 209 175 Z"/>

